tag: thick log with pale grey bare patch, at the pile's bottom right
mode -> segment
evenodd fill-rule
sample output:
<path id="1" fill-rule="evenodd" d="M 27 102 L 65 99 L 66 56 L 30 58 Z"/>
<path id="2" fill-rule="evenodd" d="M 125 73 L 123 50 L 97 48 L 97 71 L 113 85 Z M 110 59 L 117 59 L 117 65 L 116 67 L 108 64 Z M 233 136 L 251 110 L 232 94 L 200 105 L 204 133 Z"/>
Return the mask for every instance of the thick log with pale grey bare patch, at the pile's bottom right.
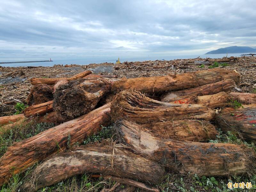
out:
<path id="1" fill-rule="evenodd" d="M 255 169 L 252 149 L 229 143 L 200 143 L 163 139 L 139 124 L 116 124 L 119 138 L 134 152 L 162 162 L 170 172 L 225 176 Z"/>

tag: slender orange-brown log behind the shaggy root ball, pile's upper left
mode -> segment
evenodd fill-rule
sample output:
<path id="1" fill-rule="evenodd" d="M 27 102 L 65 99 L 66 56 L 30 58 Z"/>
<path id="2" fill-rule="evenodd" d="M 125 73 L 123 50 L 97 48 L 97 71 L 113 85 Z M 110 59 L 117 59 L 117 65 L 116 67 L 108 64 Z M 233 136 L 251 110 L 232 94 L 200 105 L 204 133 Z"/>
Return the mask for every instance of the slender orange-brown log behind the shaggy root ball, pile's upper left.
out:
<path id="1" fill-rule="evenodd" d="M 89 74 L 91 74 L 92 71 L 83 71 L 81 73 L 78 73 L 72 77 L 68 77 L 68 78 L 31 78 L 30 82 L 32 85 L 35 84 L 48 84 L 48 85 L 54 85 L 57 81 L 63 80 L 63 79 L 67 79 L 67 80 L 76 80 L 76 79 L 80 79 L 83 78 Z"/>

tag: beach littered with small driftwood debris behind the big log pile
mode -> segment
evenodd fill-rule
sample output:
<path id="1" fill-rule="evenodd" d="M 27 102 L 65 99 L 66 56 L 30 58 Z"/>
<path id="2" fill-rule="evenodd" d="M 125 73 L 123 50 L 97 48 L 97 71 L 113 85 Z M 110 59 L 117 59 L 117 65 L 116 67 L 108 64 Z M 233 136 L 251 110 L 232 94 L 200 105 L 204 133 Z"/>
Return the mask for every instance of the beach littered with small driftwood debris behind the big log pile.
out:
<path id="1" fill-rule="evenodd" d="M 224 58 L 225 59 L 225 58 Z M 119 78 L 166 76 L 182 74 L 191 71 L 206 70 L 214 61 L 220 59 L 183 59 L 156 60 L 143 62 L 124 62 L 121 64 L 101 63 L 90 65 L 71 65 L 64 67 L 1 67 L 0 68 L 0 116 L 14 112 L 17 102 L 26 103 L 32 85 L 31 77 L 70 77 L 84 70 L 91 70 L 94 74 L 117 75 Z M 237 85 L 243 92 L 254 92 L 256 89 L 256 57 L 235 57 L 225 62 L 225 69 L 235 69 L 241 75 L 241 82 Z M 12 73 L 10 73 L 12 72 Z M 3 76 L 5 74 L 8 74 Z"/>

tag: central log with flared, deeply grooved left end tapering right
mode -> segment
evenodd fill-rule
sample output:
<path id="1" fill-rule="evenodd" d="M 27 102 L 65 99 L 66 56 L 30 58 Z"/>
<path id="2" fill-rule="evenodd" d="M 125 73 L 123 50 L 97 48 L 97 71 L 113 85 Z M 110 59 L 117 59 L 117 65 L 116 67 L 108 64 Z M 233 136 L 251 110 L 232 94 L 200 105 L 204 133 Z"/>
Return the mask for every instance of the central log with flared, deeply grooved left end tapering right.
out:
<path id="1" fill-rule="evenodd" d="M 114 121 L 128 118 L 140 124 L 179 119 L 211 120 L 214 114 L 214 110 L 202 105 L 152 100 L 135 90 L 118 93 L 111 103 L 111 117 Z"/>

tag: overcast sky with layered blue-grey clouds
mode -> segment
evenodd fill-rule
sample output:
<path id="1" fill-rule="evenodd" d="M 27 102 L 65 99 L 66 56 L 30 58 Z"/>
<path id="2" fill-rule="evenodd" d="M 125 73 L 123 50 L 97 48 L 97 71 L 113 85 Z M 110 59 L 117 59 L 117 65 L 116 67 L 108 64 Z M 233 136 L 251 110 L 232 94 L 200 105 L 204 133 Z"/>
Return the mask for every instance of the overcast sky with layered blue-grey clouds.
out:
<path id="1" fill-rule="evenodd" d="M 255 47 L 255 7 L 256 0 L 0 0 L 0 60 Z"/>

